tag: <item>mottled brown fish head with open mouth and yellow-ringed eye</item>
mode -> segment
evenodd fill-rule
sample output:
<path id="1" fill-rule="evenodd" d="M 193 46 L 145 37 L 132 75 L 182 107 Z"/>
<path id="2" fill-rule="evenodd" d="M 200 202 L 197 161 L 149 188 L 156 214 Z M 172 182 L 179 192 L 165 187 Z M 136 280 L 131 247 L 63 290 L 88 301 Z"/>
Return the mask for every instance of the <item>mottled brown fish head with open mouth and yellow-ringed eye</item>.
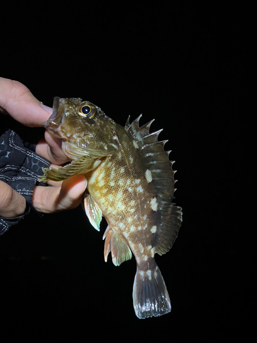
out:
<path id="1" fill-rule="evenodd" d="M 113 133 L 116 125 L 99 106 L 79 97 L 55 97 L 53 113 L 43 123 L 54 137 L 62 139 L 62 150 L 71 159 L 112 150 L 118 144 Z"/>

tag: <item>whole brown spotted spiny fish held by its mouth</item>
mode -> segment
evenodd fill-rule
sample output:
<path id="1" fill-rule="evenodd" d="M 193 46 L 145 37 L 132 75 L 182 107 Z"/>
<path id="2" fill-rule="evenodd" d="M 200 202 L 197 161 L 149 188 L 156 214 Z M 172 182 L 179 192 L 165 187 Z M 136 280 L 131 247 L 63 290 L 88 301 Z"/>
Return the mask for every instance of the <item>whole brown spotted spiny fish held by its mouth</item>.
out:
<path id="1" fill-rule="evenodd" d="M 174 161 L 158 141 L 162 130 L 149 131 L 151 120 L 139 126 L 139 115 L 125 127 L 99 106 L 82 98 L 53 99 L 53 113 L 44 123 L 62 139 L 70 163 L 58 169 L 43 168 L 39 180 L 62 181 L 75 174 L 88 180 L 82 206 L 92 226 L 101 218 L 108 224 L 103 239 L 104 260 L 136 260 L 133 305 L 138 318 L 158 317 L 171 311 L 171 301 L 154 255 L 168 252 L 178 236 L 182 208 L 172 202 Z"/>

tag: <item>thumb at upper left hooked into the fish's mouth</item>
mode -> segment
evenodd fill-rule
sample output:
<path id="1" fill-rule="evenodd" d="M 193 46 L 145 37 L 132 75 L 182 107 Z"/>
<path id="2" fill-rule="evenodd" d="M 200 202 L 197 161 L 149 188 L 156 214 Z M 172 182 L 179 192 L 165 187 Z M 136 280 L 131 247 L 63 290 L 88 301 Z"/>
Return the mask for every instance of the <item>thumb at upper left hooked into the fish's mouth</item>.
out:
<path id="1" fill-rule="evenodd" d="M 25 126 L 42 126 L 49 118 L 49 112 L 21 82 L 0 78 L 1 112 L 8 113 Z"/>

